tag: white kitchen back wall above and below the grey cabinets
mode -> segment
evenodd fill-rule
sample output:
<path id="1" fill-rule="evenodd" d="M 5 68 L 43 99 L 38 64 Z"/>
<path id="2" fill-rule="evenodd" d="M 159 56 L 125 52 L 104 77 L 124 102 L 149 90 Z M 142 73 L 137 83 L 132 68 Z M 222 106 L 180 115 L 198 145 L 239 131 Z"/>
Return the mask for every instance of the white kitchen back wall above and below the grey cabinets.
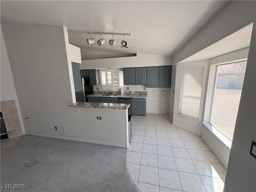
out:
<path id="1" fill-rule="evenodd" d="M 170 57 L 160 55 L 137 54 L 137 56 L 132 57 L 82 60 L 82 64 L 80 64 L 80 69 L 126 68 L 164 65 L 171 65 Z M 129 91 L 144 91 L 144 87 L 146 86 L 126 85 L 124 86 L 124 90 L 126 90 L 126 87 L 129 87 Z M 101 90 L 100 85 L 94 86 L 94 90 L 96 90 L 96 88 L 99 88 L 99 90 Z M 166 98 L 163 98 L 160 94 L 162 90 L 166 92 Z M 146 98 L 146 112 L 168 113 L 170 88 L 146 88 L 146 91 L 148 91 L 148 96 Z"/>

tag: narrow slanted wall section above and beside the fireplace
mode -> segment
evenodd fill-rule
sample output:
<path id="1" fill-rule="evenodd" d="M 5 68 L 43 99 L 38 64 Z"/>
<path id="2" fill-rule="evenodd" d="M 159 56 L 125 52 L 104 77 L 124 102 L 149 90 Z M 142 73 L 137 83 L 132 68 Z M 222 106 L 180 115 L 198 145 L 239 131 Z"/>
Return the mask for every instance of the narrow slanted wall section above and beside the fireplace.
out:
<path id="1" fill-rule="evenodd" d="M 15 100 L 19 120 L 20 120 L 20 127 L 22 130 L 22 134 L 25 134 L 25 128 L 23 124 L 22 114 L 20 112 L 20 104 L 17 98 L 14 81 L 12 78 L 12 72 L 10 68 L 10 63 L 8 59 L 8 55 L 6 52 L 6 47 L 4 43 L 4 37 L 2 34 L 2 27 L 1 27 L 1 91 L 0 91 L 0 100 L 7 101 L 7 100 Z"/>

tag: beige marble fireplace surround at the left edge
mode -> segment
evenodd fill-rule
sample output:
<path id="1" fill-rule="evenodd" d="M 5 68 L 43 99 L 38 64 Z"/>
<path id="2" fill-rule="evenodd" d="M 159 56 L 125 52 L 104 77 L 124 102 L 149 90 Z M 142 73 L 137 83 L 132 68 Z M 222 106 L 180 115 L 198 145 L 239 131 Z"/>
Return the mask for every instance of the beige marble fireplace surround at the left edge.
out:
<path id="1" fill-rule="evenodd" d="M 1 101 L 0 110 L 4 117 L 4 124 L 8 138 L 14 138 L 22 136 L 22 130 L 20 127 L 20 120 L 14 100 Z"/>

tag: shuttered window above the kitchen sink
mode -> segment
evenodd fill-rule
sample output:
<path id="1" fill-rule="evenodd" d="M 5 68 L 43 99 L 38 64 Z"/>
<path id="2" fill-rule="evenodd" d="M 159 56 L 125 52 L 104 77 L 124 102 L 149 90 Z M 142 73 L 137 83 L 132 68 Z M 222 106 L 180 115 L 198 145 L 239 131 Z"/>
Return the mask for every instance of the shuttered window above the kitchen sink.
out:
<path id="1" fill-rule="evenodd" d="M 102 89 L 122 88 L 124 86 L 123 69 L 100 70 L 100 87 Z"/>

